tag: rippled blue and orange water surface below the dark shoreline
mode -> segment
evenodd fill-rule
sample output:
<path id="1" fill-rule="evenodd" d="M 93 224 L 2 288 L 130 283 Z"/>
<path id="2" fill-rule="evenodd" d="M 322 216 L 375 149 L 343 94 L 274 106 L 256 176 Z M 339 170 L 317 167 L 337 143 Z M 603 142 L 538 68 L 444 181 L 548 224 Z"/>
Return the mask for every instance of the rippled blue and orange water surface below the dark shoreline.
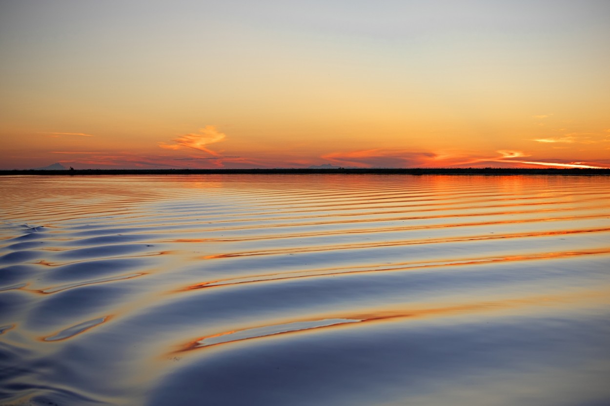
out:
<path id="1" fill-rule="evenodd" d="M 0 404 L 610 404 L 609 177 L 0 190 Z"/>

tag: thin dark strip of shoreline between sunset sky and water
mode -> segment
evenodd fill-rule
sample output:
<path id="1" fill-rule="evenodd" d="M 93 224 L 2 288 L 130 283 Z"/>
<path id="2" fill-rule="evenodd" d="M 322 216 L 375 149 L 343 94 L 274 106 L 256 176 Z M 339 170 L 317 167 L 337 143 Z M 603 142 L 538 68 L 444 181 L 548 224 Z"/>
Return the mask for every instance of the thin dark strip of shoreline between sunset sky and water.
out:
<path id="1" fill-rule="evenodd" d="M 207 174 L 401 174 L 401 175 L 610 175 L 610 168 L 273 168 L 273 169 L 69 169 L 60 171 L 0 170 L 9 175 L 207 175 Z"/>

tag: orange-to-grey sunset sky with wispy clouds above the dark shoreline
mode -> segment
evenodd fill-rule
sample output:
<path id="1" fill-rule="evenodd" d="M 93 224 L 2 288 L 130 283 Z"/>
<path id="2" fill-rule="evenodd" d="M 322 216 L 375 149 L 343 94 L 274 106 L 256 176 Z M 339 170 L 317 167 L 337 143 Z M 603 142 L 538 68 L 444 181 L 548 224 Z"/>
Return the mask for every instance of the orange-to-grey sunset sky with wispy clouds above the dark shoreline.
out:
<path id="1" fill-rule="evenodd" d="M 610 167 L 608 0 L 0 0 L 0 169 Z"/>

